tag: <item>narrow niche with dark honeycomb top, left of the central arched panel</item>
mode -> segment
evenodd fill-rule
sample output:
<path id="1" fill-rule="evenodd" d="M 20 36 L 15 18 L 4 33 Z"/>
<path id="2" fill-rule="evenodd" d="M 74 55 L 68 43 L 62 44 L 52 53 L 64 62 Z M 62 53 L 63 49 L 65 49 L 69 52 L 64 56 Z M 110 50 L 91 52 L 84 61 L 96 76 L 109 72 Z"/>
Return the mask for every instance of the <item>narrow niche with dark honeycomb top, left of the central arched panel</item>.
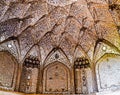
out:
<path id="1" fill-rule="evenodd" d="M 28 56 L 22 68 L 20 92 L 36 93 L 40 61 L 36 56 Z"/>

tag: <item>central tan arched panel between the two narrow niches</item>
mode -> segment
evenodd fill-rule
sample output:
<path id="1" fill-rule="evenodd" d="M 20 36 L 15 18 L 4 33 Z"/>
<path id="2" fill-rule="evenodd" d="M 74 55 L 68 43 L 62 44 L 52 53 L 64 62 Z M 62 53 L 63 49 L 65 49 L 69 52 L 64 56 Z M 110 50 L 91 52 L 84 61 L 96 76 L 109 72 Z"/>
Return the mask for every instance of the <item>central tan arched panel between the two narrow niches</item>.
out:
<path id="1" fill-rule="evenodd" d="M 70 70 L 63 63 L 55 61 L 44 68 L 43 93 L 70 92 Z"/>

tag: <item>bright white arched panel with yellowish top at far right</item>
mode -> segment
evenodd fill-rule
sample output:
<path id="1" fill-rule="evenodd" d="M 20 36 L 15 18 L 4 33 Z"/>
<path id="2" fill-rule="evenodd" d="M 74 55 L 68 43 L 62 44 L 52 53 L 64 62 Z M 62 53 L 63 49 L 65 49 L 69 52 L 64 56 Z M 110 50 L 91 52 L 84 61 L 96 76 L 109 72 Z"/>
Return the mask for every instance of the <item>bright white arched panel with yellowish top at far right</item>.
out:
<path id="1" fill-rule="evenodd" d="M 105 54 L 96 63 L 99 91 L 120 89 L 120 55 Z"/>

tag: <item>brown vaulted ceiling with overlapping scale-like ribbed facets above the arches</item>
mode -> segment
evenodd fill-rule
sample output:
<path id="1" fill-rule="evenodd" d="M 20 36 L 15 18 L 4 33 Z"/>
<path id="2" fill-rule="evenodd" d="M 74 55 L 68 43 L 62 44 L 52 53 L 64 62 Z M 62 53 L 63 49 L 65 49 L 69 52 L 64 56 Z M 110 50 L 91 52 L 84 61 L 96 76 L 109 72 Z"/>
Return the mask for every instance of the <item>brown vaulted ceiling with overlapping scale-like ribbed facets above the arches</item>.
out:
<path id="1" fill-rule="evenodd" d="M 26 55 L 35 45 L 89 57 L 99 42 L 120 50 L 120 0 L 0 0 L 0 44 L 16 40 Z"/>

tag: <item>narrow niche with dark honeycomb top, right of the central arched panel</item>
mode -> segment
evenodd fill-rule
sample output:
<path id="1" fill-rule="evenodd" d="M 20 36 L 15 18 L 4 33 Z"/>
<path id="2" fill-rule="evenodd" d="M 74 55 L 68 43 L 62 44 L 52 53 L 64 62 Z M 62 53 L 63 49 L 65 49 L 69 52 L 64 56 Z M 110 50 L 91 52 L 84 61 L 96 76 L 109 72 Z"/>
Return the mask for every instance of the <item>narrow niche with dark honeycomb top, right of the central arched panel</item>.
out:
<path id="1" fill-rule="evenodd" d="M 76 94 L 89 94 L 93 92 L 92 71 L 87 58 L 76 58 L 74 62 L 74 76 Z"/>

